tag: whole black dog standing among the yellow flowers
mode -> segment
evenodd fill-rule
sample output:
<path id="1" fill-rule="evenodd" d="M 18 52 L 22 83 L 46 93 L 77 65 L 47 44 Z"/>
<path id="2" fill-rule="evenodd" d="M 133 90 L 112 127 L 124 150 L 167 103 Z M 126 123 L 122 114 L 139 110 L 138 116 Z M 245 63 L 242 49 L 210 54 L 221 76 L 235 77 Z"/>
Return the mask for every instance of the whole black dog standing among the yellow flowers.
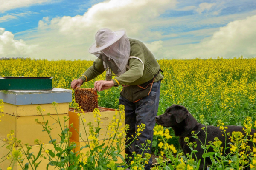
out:
<path id="1" fill-rule="evenodd" d="M 205 141 L 205 133 L 202 130 L 202 127 L 205 127 L 205 125 L 198 123 L 196 119 L 189 113 L 189 111 L 182 105 L 172 105 L 171 107 L 167 108 L 165 113 L 156 116 L 156 122 L 159 125 L 162 125 L 164 127 L 172 127 L 172 129 L 175 132 L 175 136 L 179 136 L 179 143 L 182 147 L 184 153 L 191 153 L 191 150 L 189 149 L 189 146 L 187 146 L 187 143 L 184 142 L 185 137 L 189 137 L 190 142 L 197 142 L 196 150 L 198 151 L 196 154 L 197 159 L 201 159 L 200 168 L 199 170 L 203 170 L 204 167 L 204 159 L 202 159 L 202 155 L 204 153 L 204 150 L 201 148 L 201 144 L 198 141 L 198 139 L 201 140 L 201 142 L 204 144 Z M 241 126 L 227 126 L 226 134 L 230 132 L 230 134 L 233 131 L 242 131 L 243 127 Z M 198 133 L 198 139 L 192 138 L 191 131 L 195 131 L 195 134 Z M 215 126 L 207 126 L 207 143 L 209 141 L 214 142 L 214 138 L 218 137 L 220 141 L 222 141 L 223 147 L 225 147 L 225 136 L 222 136 L 224 133 L 221 132 L 223 130 L 220 130 L 219 127 Z M 251 130 L 251 135 L 253 136 L 253 133 L 255 133 L 255 130 Z M 244 133 L 244 132 L 243 132 Z M 245 134 L 245 133 L 244 133 Z M 249 137 L 250 139 L 250 137 Z M 227 143 L 230 142 L 229 136 L 227 136 Z M 253 144 L 251 142 L 248 142 L 248 145 L 250 145 L 251 149 Z M 207 152 L 213 152 L 213 148 L 210 147 Z M 230 150 L 227 149 L 226 153 L 229 153 Z M 207 164 L 212 164 L 209 157 L 205 160 L 205 170 L 207 167 Z M 250 169 L 250 168 L 247 168 Z"/>

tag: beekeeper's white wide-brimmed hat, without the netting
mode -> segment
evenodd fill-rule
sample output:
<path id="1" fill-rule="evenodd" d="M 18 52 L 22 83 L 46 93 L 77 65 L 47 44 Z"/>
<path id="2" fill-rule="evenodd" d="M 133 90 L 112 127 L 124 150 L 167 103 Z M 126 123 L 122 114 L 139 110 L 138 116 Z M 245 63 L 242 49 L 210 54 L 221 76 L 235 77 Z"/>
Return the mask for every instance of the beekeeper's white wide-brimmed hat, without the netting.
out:
<path id="1" fill-rule="evenodd" d="M 112 31 L 108 28 L 102 28 L 95 34 L 95 43 L 89 48 L 89 53 L 101 51 L 116 41 L 125 34 L 125 30 Z"/>

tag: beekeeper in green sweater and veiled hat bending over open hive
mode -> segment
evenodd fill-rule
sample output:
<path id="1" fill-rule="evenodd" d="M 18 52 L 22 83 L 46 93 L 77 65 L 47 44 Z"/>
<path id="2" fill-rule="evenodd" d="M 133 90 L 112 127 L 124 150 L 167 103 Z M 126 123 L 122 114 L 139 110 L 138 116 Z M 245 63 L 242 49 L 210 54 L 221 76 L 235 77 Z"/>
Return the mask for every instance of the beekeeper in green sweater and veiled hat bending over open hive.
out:
<path id="1" fill-rule="evenodd" d="M 128 38 L 124 30 L 111 31 L 108 28 L 100 29 L 95 35 L 96 42 L 89 52 L 98 57 L 93 65 L 77 80 L 71 82 L 71 88 L 80 87 L 104 71 L 111 70 L 116 77 L 111 81 L 100 80 L 94 83 L 94 89 L 102 91 L 113 86 L 122 85 L 119 104 L 125 106 L 125 124 L 130 125 L 127 137 L 133 139 L 137 125 L 146 125 L 138 140 L 125 150 L 128 156 L 132 152 L 141 153 L 139 147 L 146 140 L 153 140 L 155 116 L 157 116 L 160 83 L 163 79 L 160 66 L 154 55 L 139 40 Z M 129 141 L 128 141 L 129 143 Z M 147 150 L 151 153 L 150 150 Z M 152 164 L 145 165 L 149 170 Z"/>

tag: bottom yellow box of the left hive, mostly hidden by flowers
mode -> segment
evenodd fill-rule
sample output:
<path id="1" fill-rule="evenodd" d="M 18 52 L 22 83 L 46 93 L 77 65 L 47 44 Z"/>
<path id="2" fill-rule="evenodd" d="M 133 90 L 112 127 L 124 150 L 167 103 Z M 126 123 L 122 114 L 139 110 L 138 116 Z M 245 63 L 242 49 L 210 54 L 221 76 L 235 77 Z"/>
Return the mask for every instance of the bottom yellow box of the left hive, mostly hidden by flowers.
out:
<path id="1" fill-rule="evenodd" d="M 3 146 L 3 144 L 4 144 L 4 142 L 0 140 L 0 146 Z M 6 146 L 7 145 L 5 145 L 4 147 L 0 148 L 0 158 L 2 158 L 3 156 L 5 156 L 6 154 L 9 153 L 9 150 L 6 149 Z M 14 148 L 15 148 L 15 150 L 18 150 L 20 147 L 14 147 Z M 53 144 L 45 144 L 44 148 L 45 148 L 45 150 L 47 150 L 47 149 L 54 150 Z M 26 148 L 24 148 L 24 149 L 26 151 Z M 30 150 L 30 153 L 33 152 L 34 155 L 37 156 L 38 153 L 39 153 L 39 150 L 40 150 L 40 146 L 39 145 L 34 145 L 34 146 L 32 146 L 32 149 Z M 41 154 L 44 154 L 44 156 L 46 156 L 46 153 L 44 152 L 44 150 L 42 150 Z M 23 157 L 25 157 L 25 156 L 23 156 Z M 49 161 L 47 159 L 39 157 L 37 163 L 40 162 L 40 161 L 42 161 L 42 162 L 39 164 L 37 170 L 46 170 L 46 166 L 49 163 Z M 28 162 L 28 160 L 26 159 L 26 160 L 24 160 L 23 164 L 26 164 L 27 162 Z M 10 164 L 11 164 L 11 160 L 10 159 L 6 159 L 5 161 L 0 163 L 0 167 L 3 170 L 6 170 L 7 167 L 10 166 Z M 1 168 L 0 168 L 0 170 L 1 170 Z M 12 170 L 20 170 L 20 169 L 21 169 L 20 165 L 18 165 L 18 163 L 15 162 L 15 164 L 13 165 Z M 30 169 L 32 169 L 32 168 L 29 165 L 29 170 Z M 54 170 L 54 166 L 49 166 L 48 170 Z"/>

